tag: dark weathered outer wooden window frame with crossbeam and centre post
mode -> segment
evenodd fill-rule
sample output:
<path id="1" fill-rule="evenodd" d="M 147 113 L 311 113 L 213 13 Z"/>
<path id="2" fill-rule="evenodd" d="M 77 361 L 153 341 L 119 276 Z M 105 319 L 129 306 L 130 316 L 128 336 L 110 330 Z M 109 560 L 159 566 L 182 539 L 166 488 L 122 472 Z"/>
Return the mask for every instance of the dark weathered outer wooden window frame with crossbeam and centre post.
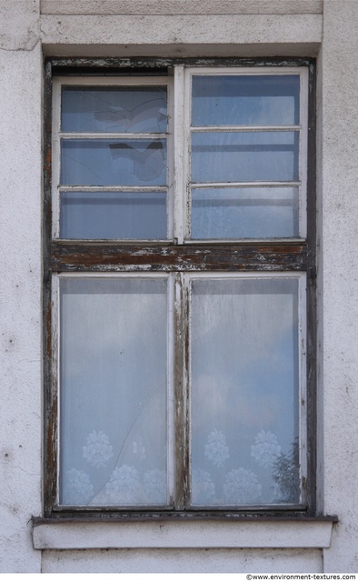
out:
<path id="1" fill-rule="evenodd" d="M 55 154 L 53 152 L 53 79 L 60 75 L 92 75 L 97 79 L 108 79 L 114 75 L 165 75 L 173 66 L 177 67 L 176 77 L 183 81 L 174 86 L 174 103 L 177 111 L 174 115 L 174 139 L 182 135 L 187 118 L 185 120 L 184 95 L 182 87 L 185 83 L 184 67 L 198 67 L 204 71 L 206 67 L 258 67 L 266 71 L 264 67 L 272 67 L 278 73 L 283 70 L 280 67 L 305 67 L 308 71 L 308 122 L 307 122 L 307 236 L 296 239 L 274 240 L 241 240 L 241 241 L 192 241 L 185 239 L 187 234 L 186 214 L 187 200 L 183 206 L 183 198 L 174 196 L 174 216 L 181 216 L 179 226 L 174 226 L 174 238 L 167 241 L 73 241 L 57 238 L 57 231 L 53 231 L 53 177 Z M 205 69 L 203 68 L 205 67 Z M 208 69 L 207 69 L 208 70 Z M 234 69 L 233 69 L 234 70 Z M 145 78 L 145 77 L 143 77 Z M 101 81 L 101 84 L 107 81 Z M 44 111 L 44 381 L 45 381 L 45 492 L 44 512 L 45 517 L 73 517 L 81 515 L 85 517 L 108 518 L 231 518 L 240 516 L 252 517 L 312 517 L 315 515 L 315 471 L 316 471 L 316 256 L 315 256 L 315 61 L 309 58 L 257 58 L 257 59 L 86 59 L 86 58 L 51 58 L 45 61 L 45 111 Z M 182 137 L 180 137 L 182 139 Z M 300 150 L 300 155 L 302 150 Z M 175 156 L 180 156 L 176 153 Z M 174 160 L 176 168 L 184 168 L 177 171 L 174 177 L 174 192 L 184 191 L 186 187 L 185 163 L 179 159 Z M 170 169 L 173 171 L 173 168 Z M 55 210 L 55 208 L 54 208 Z M 55 210 L 56 212 L 56 210 Z M 186 231 L 185 231 L 186 228 Z M 272 273 L 283 274 L 305 273 L 307 277 L 306 296 L 306 320 L 307 320 L 307 366 L 306 366 L 306 421 L 307 421 L 307 480 L 302 483 L 305 490 L 305 503 L 298 507 L 260 507 L 251 509 L 220 510 L 213 507 L 206 511 L 185 511 L 184 499 L 177 498 L 177 510 L 168 511 L 114 511 L 113 508 L 101 508 L 94 511 L 93 508 L 68 511 L 66 507 L 56 507 L 57 498 L 57 471 L 58 471 L 58 444 L 57 444 L 57 416 L 58 416 L 58 388 L 54 356 L 57 353 L 57 338 L 54 333 L 54 296 L 52 294 L 52 276 L 63 274 L 99 274 L 99 273 L 124 273 L 124 272 L 165 272 L 174 273 L 175 285 L 178 286 L 178 294 L 185 293 L 181 285 L 181 274 L 212 273 L 213 276 L 220 273 Z M 183 377 L 178 368 L 184 365 L 188 359 L 187 339 L 188 326 L 183 324 L 184 318 L 174 318 L 174 331 L 180 336 L 181 349 L 175 357 L 175 376 Z M 184 339 L 184 341 L 183 341 Z M 181 381 L 175 382 L 174 393 L 176 402 L 183 398 L 184 386 Z M 177 407 L 176 407 L 177 416 Z M 182 413 L 176 418 L 177 423 L 183 422 Z M 178 428 L 178 440 L 184 427 Z M 185 463 L 185 461 L 184 461 Z M 183 471 L 184 471 L 183 467 Z M 178 470 L 176 475 L 180 476 Z M 176 477 L 178 478 L 178 477 Z M 184 495 L 182 474 L 182 486 L 180 489 Z M 187 484 L 186 484 L 187 486 Z"/>

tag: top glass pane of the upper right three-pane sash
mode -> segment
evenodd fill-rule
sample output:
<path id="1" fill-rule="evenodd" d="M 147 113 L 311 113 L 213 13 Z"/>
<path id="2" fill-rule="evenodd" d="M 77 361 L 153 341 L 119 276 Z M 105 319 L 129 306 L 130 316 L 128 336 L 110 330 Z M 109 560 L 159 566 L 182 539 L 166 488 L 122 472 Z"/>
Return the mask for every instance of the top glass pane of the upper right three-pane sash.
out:
<path id="1" fill-rule="evenodd" d="M 300 123 L 299 75 L 197 75 L 192 125 Z"/>

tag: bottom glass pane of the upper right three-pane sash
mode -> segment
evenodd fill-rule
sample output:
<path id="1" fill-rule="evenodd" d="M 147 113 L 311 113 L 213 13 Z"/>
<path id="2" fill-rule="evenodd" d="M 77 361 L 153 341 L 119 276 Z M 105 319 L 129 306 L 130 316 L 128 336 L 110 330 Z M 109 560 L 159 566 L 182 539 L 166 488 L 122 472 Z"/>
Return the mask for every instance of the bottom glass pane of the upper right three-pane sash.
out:
<path id="1" fill-rule="evenodd" d="M 298 236 L 298 188 L 193 188 L 192 238 Z"/>

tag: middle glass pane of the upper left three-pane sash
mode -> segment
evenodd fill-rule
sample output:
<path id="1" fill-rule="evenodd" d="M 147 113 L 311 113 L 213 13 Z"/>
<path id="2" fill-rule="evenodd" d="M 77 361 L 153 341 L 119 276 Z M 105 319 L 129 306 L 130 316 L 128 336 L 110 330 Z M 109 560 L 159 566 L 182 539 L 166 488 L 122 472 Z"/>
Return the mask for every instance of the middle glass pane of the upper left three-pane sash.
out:
<path id="1" fill-rule="evenodd" d="M 166 184 L 166 140 L 62 140 L 61 160 L 68 186 Z"/>

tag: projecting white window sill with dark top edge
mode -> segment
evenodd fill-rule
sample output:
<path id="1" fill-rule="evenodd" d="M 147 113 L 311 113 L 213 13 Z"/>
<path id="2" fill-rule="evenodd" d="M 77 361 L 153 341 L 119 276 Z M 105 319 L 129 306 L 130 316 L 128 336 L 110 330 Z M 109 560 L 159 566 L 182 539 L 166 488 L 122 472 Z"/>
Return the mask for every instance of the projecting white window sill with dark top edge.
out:
<path id="1" fill-rule="evenodd" d="M 336 517 L 122 521 L 34 518 L 35 549 L 330 547 Z"/>

